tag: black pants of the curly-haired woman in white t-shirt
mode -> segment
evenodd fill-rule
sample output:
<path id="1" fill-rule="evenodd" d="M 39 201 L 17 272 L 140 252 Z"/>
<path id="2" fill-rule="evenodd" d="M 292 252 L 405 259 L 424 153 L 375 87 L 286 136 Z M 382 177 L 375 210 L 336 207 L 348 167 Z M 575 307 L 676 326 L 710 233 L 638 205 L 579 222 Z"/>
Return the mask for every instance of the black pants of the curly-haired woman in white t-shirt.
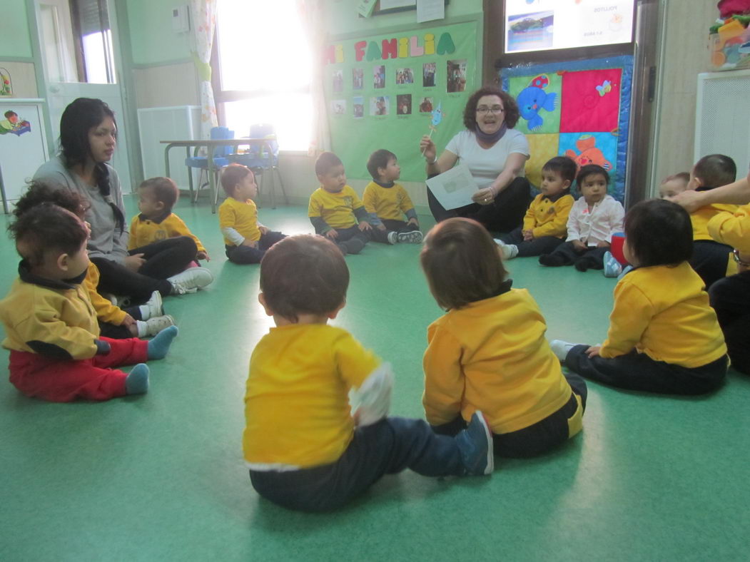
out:
<path id="1" fill-rule="evenodd" d="M 526 178 L 515 178 L 495 196 L 490 205 L 472 203 L 446 211 L 429 188 L 427 199 L 432 216 L 438 223 L 453 217 L 466 217 L 481 223 L 490 232 L 511 232 L 523 222 L 523 215 L 531 202 L 531 192 Z"/>

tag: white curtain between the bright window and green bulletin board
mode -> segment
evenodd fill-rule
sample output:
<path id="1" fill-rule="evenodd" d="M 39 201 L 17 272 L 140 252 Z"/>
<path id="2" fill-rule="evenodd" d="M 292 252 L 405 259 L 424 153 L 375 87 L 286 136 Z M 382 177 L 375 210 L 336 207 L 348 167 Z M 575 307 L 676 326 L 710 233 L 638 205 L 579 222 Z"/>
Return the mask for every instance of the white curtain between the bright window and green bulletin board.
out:
<path id="1" fill-rule="evenodd" d="M 310 91 L 313 100 L 314 127 L 308 154 L 315 157 L 323 151 L 331 150 L 331 130 L 328 121 L 326 95 L 323 92 L 323 52 L 328 43 L 324 23 L 323 0 L 297 0 L 302 25 L 313 53 Z"/>

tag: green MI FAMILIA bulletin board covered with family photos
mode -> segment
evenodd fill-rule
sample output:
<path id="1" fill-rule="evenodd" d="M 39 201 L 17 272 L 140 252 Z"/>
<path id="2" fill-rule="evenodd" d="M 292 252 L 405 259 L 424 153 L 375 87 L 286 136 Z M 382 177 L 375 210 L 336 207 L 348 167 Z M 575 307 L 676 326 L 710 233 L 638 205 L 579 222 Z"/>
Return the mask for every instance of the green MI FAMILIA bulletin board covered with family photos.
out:
<path id="1" fill-rule="evenodd" d="M 392 151 L 402 181 L 425 181 L 419 139 L 438 152 L 462 130 L 463 107 L 476 89 L 477 22 L 455 23 L 335 41 L 323 79 L 332 148 L 350 178 L 380 148 Z"/>

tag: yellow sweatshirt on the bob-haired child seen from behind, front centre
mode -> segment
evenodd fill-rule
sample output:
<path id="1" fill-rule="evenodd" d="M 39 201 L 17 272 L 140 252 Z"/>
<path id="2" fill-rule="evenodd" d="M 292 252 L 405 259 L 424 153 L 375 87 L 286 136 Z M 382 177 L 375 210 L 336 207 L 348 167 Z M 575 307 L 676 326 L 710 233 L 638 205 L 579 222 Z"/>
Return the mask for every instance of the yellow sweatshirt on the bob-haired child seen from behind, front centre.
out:
<path id="1" fill-rule="evenodd" d="M 493 433 L 531 426 L 562 408 L 571 387 L 544 332 L 547 324 L 526 289 L 450 310 L 428 328 L 425 394 L 428 422 L 469 420 L 481 410 Z M 580 430 L 571 423 L 571 436 Z"/>

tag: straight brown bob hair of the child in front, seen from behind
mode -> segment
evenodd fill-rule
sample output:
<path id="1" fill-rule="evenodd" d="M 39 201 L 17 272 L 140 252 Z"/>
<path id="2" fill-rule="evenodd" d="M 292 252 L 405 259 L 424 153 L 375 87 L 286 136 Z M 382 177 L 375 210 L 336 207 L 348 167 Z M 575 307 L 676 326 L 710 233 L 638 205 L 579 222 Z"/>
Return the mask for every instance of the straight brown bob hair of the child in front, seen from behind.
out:
<path id="1" fill-rule="evenodd" d="M 432 296 L 446 310 L 494 297 L 508 274 L 489 232 L 471 219 L 438 223 L 419 259 Z"/>

